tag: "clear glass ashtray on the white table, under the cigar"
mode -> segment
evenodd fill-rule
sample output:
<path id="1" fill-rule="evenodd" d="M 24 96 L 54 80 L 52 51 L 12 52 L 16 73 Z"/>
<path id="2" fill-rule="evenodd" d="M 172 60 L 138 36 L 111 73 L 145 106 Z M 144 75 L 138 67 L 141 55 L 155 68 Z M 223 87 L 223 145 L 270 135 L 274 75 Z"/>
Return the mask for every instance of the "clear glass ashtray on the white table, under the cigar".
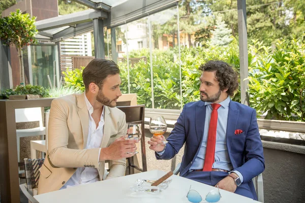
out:
<path id="1" fill-rule="evenodd" d="M 130 189 L 137 193 L 151 193 L 157 194 L 165 190 L 168 185 L 171 183 L 172 179 L 167 179 L 160 183 L 158 186 L 151 186 L 154 181 L 146 179 L 137 179 L 135 184 L 130 187 Z"/>

